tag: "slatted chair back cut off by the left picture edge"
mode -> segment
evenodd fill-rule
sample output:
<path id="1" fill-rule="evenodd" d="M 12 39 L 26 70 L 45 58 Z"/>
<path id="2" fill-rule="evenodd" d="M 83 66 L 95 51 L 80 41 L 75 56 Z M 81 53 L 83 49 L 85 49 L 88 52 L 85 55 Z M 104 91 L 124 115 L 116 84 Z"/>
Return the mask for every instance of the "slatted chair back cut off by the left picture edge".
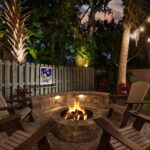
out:
<path id="1" fill-rule="evenodd" d="M 4 99 L 2 93 L 0 92 L 0 107 L 7 107 L 6 100 Z M 3 118 L 5 115 L 8 115 L 7 110 L 0 111 L 0 118 Z"/>

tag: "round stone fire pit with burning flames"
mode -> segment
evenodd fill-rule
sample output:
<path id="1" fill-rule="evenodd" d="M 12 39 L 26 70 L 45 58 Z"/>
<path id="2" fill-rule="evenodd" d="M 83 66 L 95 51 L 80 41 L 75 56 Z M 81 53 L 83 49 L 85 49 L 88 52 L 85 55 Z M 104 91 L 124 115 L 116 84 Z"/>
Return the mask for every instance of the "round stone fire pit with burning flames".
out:
<path id="1" fill-rule="evenodd" d="M 51 119 L 56 125 L 53 134 L 65 142 L 95 140 L 100 135 L 100 128 L 93 119 L 100 116 L 101 112 L 97 108 L 80 106 L 75 101 L 74 106 L 62 107 L 52 113 Z"/>

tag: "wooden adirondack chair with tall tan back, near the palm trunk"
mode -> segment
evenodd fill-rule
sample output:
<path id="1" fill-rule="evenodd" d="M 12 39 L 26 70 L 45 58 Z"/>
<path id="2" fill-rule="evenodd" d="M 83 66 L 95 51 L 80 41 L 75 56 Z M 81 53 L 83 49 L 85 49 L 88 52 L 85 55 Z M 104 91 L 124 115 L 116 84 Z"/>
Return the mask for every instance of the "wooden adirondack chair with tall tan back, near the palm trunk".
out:
<path id="1" fill-rule="evenodd" d="M 128 99 L 125 102 L 126 105 L 121 106 L 121 105 L 114 104 L 114 103 L 110 104 L 109 106 L 110 109 L 109 109 L 109 113 L 107 117 L 111 117 L 113 111 L 116 111 L 124 115 L 122 123 L 121 123 L 121 128 L 125 127 L 128 121 L 128 115 L 127 115 L 128 111 L 130 111 L 131 109 L 140 111 L 143 104 L 150 104 L 150 102 L 148 101 L 143 101 L 148 89 L 149 89 L 148 82 L 139 81 L 139 82 L 133 83 L 129 92 Z"/>

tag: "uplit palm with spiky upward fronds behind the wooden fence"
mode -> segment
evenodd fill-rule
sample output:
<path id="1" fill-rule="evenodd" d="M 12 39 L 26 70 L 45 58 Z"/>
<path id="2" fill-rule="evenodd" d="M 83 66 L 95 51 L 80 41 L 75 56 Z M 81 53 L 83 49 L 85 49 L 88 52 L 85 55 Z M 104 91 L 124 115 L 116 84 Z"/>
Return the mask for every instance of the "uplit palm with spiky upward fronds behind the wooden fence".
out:
<path id="1" fill-rule="evenodd" d="M 3 10 L 3 20 L 11 53 L 18 62 L 23 63 L 27 54 L 25 41 L 29 37 L 24 33 L 24 28 L 30 12 L 23 14 L 24 8 L 19 0 L 4 1 Z"/>

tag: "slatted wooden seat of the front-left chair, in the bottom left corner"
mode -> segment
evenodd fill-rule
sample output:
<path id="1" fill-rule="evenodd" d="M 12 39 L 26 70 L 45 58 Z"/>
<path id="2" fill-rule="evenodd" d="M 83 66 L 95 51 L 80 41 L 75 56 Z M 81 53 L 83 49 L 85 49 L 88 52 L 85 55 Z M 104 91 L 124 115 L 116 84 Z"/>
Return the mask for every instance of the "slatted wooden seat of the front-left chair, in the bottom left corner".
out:
<path id="1" fill-rule="evenodd" d="M 29 137 L 31 137 L 30 134 L 21 130 L 17 130 L 10 137 L 0 143 L 0 150 L 14 150 Z"/>

